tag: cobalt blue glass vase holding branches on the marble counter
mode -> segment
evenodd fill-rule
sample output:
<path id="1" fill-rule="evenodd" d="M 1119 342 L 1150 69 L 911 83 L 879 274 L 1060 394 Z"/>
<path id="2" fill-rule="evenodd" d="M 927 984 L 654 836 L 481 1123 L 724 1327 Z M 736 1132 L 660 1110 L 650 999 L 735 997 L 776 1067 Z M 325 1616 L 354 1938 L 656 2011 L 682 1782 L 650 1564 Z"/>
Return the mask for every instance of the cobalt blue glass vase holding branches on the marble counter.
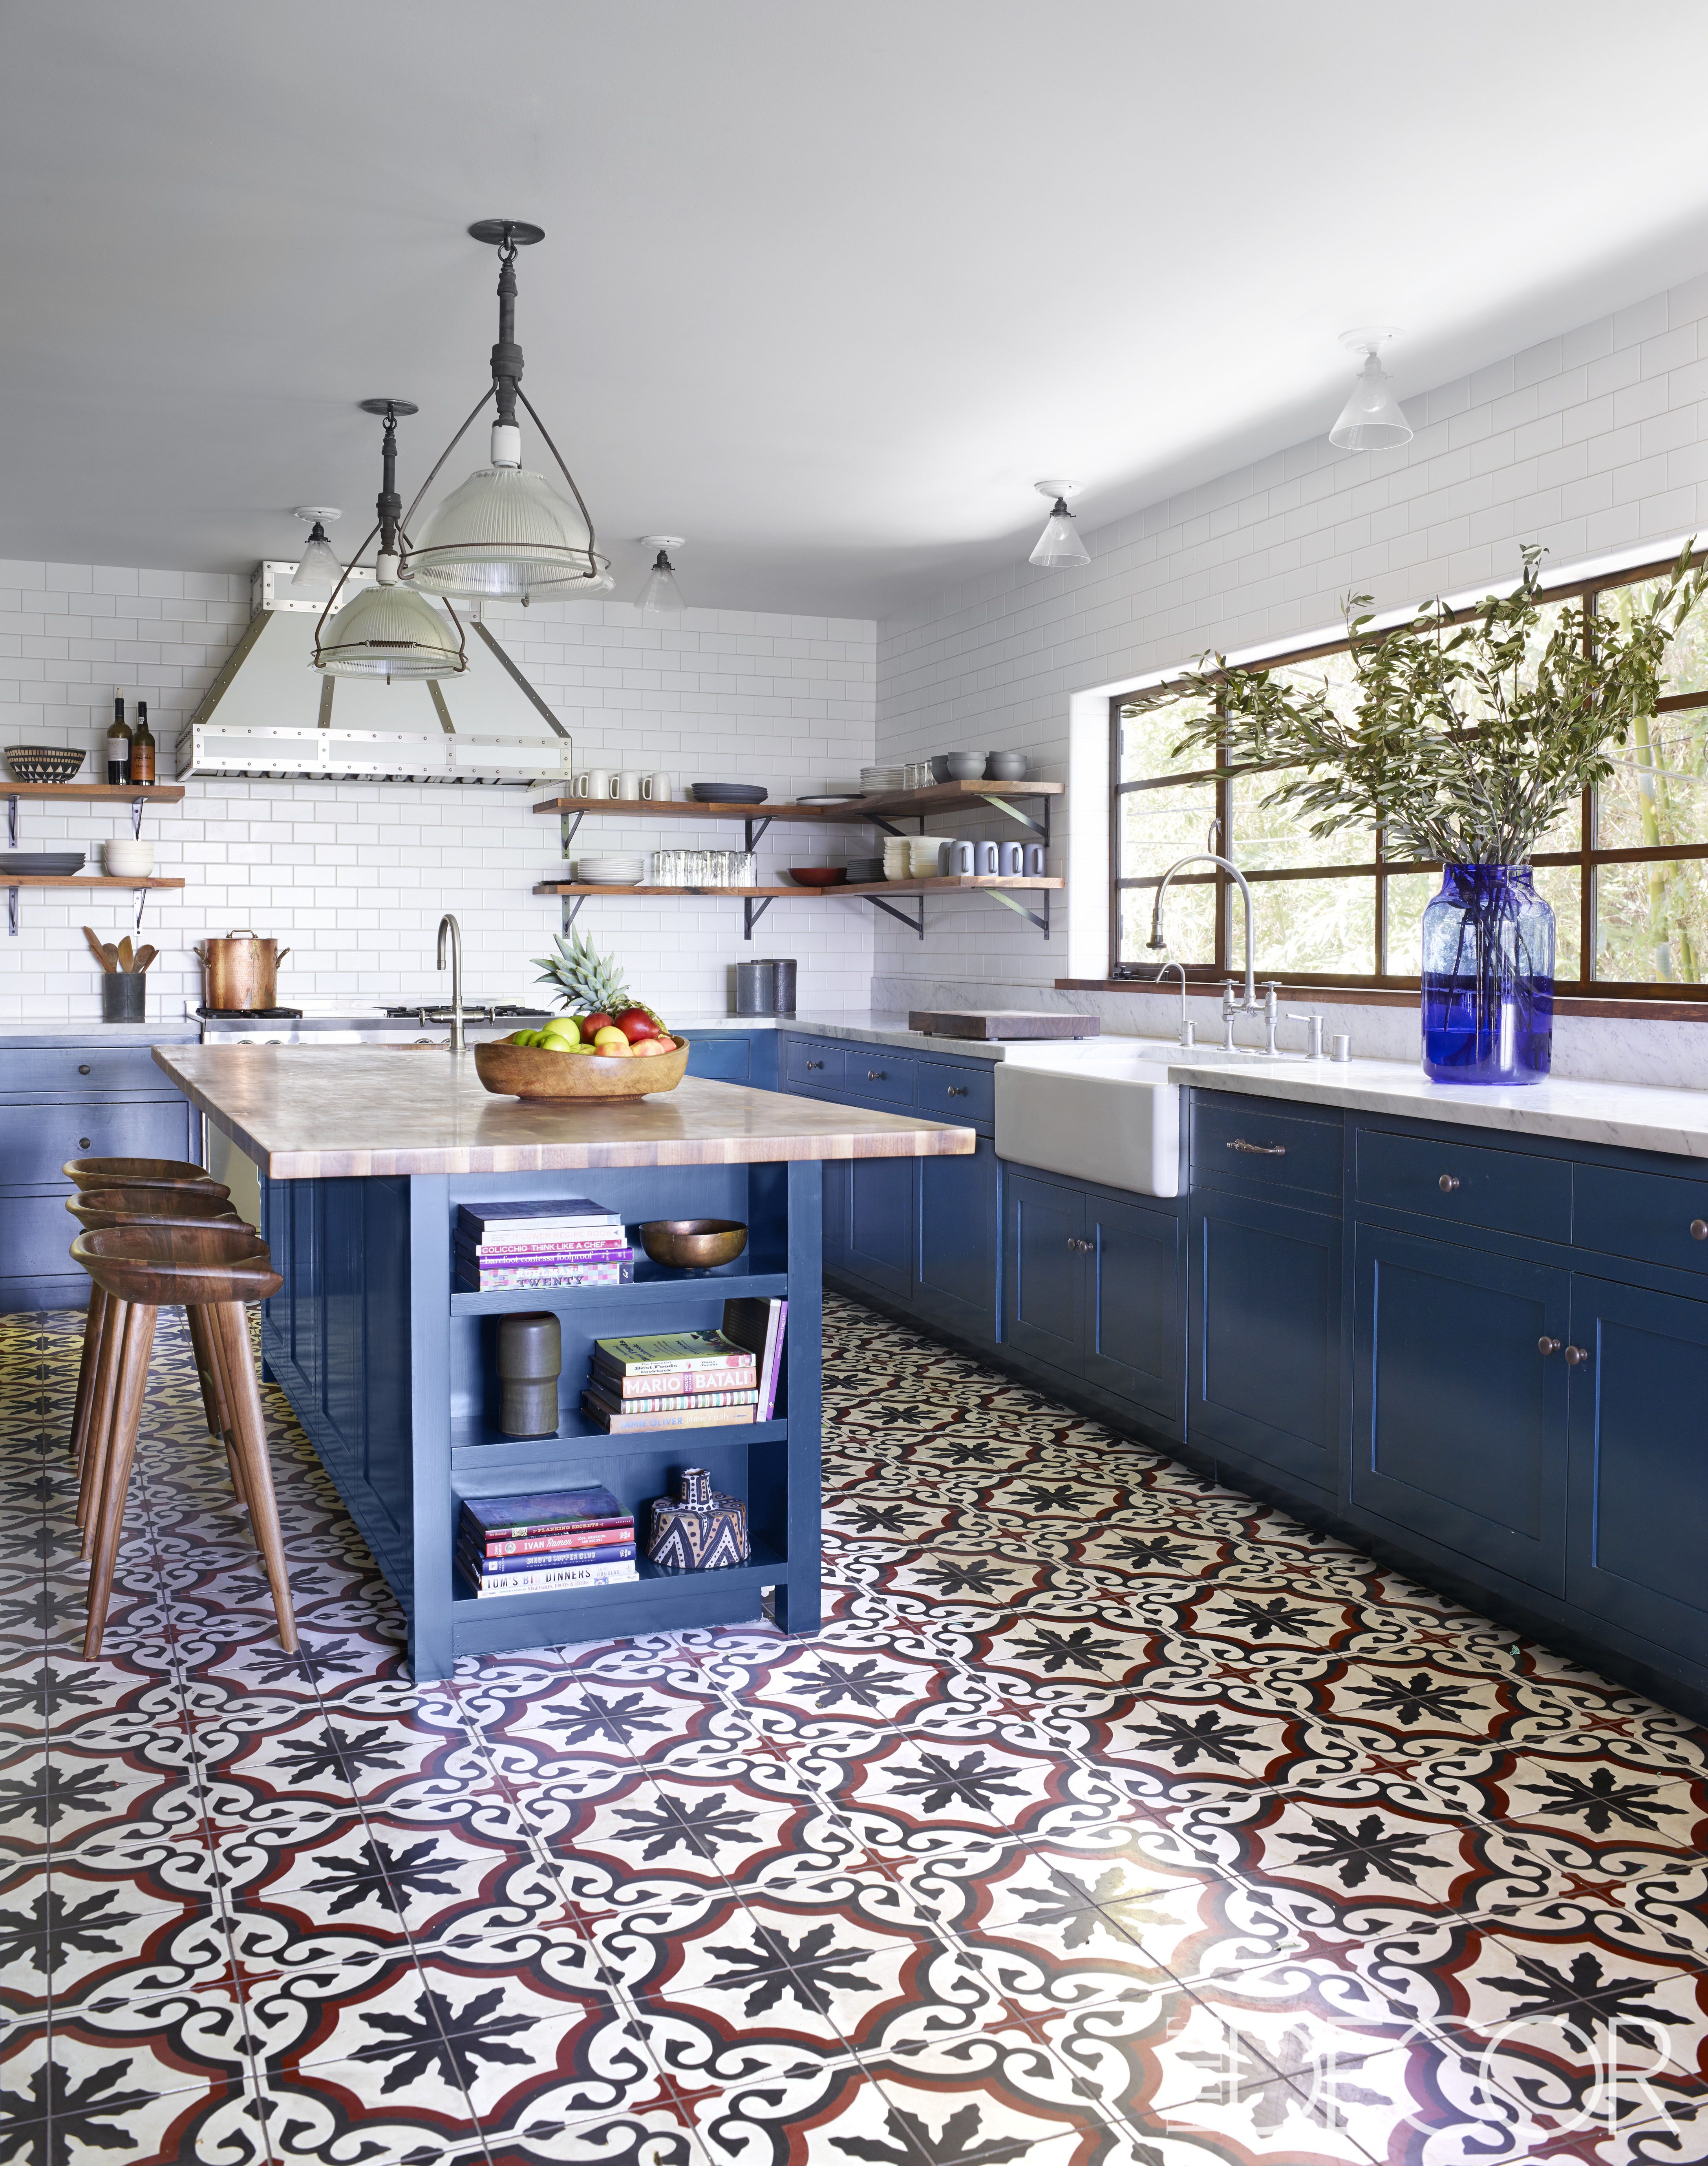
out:
<path id="1" fill-rule="evenodd" d="M 1554 1057 L 1554 912 L 1528 864 L 1448 864 L 1424 910 L 1424 1074 L 1539 1083 Z"/>

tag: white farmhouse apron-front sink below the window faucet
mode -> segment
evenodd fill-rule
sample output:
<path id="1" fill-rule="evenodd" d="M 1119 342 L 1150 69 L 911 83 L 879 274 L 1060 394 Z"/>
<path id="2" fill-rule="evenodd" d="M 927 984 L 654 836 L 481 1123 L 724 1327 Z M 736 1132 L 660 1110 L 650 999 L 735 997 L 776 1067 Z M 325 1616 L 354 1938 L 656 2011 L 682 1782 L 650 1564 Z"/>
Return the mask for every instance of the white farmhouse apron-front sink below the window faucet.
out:
<path id="1" fill-rule="evenodd" d="M 1179 1085 L 1160 1040 L 1012 1046 L 997 1064 L 997 1157 L 1136 1196 L 1179 1196 Z"/>

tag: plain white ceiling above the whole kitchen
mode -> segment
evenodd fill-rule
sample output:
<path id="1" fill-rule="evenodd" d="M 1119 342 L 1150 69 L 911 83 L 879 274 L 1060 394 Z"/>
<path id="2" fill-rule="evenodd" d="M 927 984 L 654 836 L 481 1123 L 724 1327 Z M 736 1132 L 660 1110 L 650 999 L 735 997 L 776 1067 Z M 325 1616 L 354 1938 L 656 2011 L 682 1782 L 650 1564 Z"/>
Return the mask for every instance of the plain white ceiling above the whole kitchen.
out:
<path id="1" fill-rule="evenodd" d="M 1095 526 L 1327 431 L 1350 323 L 1405 396 L 1708 271 L 1706 63 L 1699 0 L 11 0 L 0 557 L 351 537 L 353 401 L 412 494 L 509 214 L 624 591 L 670 531 L 694 602 L 882 613 L 1040 474 Z"/>

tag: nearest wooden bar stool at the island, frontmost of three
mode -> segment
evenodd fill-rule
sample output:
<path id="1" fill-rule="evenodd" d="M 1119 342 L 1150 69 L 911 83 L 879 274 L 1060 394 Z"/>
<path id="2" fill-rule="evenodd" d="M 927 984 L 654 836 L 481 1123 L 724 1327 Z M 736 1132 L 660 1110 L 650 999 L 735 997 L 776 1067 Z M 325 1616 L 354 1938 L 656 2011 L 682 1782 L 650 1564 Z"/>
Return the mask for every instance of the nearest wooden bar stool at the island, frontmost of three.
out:
<path id="1" fill-rule="evenodd" d="M 160 1308 L 178 1306 L 202 1308 L 208 1323 L 208 1345 L 232 1414 L 232 1445 L 243 1469 L 256 1542 L 273 1588 L 280 1640 L 293 1655 L 297 1622 L 290 1609 L 273 1469 L 267 1460 L 260 1388 L 249 1352 L 249 1321 L 243 1313 L 245 1302 L 264 1302 L 284 1284 L 267 1243 L 243 1224 L 102 1226 L 80 1232 L 72 1243 L 72 1256 L 106 1295 L 102 1339 L 104 1347 L 115 1349 L 113 1412 L 104 1430 L 98 1432 L 93 1423 L 89 1430 L 95 1540 L 85 1657 L 93 1659 L 102 1648 L 130 1464 L 137 1456 L 137 1430 L 147 1391 L 147 1362 L 154 1352 L 154 1321 Z"/>

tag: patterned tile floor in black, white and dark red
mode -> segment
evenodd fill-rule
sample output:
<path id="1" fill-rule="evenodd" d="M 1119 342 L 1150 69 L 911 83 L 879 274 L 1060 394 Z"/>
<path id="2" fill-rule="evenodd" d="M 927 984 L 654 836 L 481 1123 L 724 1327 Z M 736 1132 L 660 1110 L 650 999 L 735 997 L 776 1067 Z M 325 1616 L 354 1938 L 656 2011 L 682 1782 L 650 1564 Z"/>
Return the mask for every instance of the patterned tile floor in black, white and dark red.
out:
<path id="1" fill-rule="evenodd" d="M 830 1620 L 468 1661 L 167 1332 L 111 1655 L 0 1323 L 0 2160 L 1708 2160 L 1708 1741 L 847 1304 Z M 878 1380 L 874 1384 L 874 1378 Z"/>

